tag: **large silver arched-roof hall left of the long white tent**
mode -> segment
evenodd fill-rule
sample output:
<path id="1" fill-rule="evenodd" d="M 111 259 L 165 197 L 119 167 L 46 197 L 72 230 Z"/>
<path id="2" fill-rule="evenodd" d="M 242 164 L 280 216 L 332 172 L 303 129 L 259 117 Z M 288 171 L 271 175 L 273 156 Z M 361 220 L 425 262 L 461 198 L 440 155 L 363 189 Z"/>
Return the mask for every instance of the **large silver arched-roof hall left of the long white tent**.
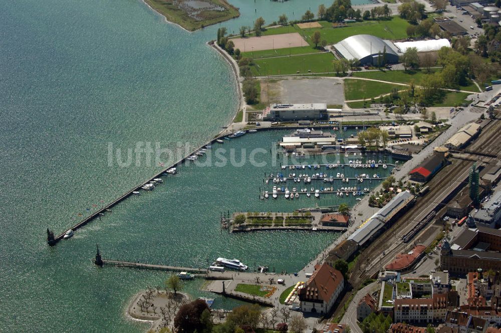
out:
<path id="1" fill-rule="evenodd" d="M 398 63 L 398 54 L 390 41 L 372 35 L 355 35 L 334 44 L 336 54 L 345 59 L 357 59 L 361 64 L 376 65 L 386 49 L 386 62 Z"/>

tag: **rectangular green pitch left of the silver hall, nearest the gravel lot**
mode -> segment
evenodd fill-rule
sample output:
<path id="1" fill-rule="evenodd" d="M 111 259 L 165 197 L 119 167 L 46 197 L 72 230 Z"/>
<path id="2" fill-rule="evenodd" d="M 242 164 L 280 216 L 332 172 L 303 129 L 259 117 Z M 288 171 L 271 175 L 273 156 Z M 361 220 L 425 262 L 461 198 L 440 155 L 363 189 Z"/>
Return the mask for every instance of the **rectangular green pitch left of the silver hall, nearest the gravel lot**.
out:
<path id="1" fill-rule="evenodd" d="M 256 59 L 251 66 L 256 76 L 331 72 L 332 53 L 309 54 L 285 58 Z"/>

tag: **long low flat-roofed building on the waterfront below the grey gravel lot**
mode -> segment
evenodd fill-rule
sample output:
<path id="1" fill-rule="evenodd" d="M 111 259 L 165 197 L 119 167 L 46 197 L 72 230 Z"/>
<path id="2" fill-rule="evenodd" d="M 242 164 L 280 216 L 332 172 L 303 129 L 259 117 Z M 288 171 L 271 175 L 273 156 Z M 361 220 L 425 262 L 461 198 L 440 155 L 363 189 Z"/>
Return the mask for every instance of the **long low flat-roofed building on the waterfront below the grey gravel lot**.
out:
<path id="1" fill-rule="evenodd" d="M 326 120 L 326 103 L 273 104 L 263 111 L 263 120 Z"/>

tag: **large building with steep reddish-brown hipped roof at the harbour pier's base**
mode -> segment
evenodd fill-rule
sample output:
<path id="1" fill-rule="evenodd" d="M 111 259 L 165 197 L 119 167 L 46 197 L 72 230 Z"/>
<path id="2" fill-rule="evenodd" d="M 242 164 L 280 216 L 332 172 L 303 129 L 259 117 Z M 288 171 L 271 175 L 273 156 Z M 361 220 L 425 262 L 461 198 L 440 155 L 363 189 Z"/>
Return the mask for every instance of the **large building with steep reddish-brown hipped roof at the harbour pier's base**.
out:
<path id="1" fill-rule="evenodd" d="M 298 291 L 301 311 L 329 312 L 343 288 L 343 274 L 324 262 Z"/>

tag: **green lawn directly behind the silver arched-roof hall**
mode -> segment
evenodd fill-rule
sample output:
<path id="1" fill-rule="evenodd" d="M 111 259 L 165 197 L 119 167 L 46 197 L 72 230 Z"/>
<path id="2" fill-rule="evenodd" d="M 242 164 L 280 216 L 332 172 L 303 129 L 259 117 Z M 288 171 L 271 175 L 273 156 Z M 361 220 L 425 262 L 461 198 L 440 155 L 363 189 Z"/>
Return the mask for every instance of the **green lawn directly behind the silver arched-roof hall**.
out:
<path id="1" fill-rule="evenodd" d="M 402 39 L 407 38 L 406 29 L 409 23 L 399 17 L 393 17 L 390 21 L 364 21 L 349 23 L 343 28 L 332 28 L 332 24 L 327 21 L 320 21 L 322 28 L 298 29 L 303 38 L 310 43 L 311 35 L 315 31 L 320 31 L 321 39 L 325 39 L 328 44 L 335 44 L 343 39 L 360 34 L 368 34 L 382 39 Z M 272 30 L 272 29 L 270 29 Z"/>

